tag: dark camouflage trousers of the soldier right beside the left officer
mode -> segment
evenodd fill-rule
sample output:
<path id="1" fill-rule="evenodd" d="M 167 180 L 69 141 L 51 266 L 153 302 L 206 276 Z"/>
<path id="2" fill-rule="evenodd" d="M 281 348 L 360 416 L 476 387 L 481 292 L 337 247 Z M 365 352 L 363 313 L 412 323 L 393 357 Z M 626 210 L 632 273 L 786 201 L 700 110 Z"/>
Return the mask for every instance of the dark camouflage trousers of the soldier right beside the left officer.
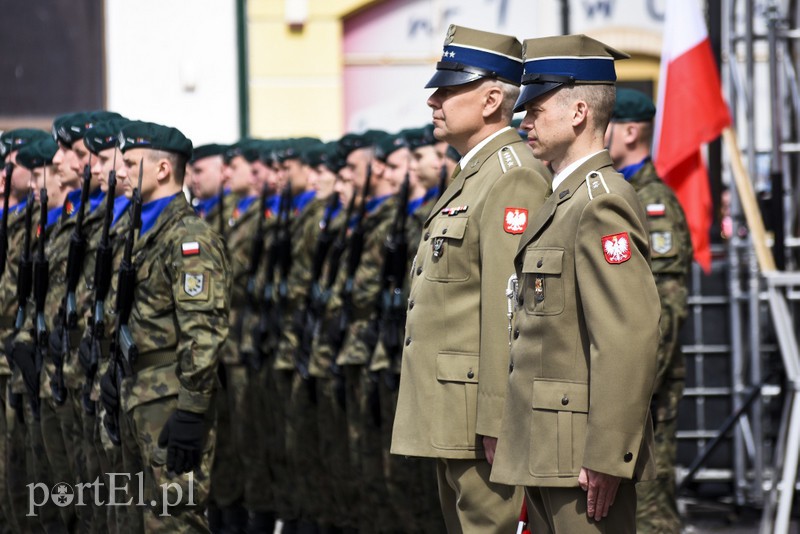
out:
<path id="1" fill-rule="evenodd" d="M 383 371 L 389 373 L 391 371 Z M 381 446 L 389 502 L 405 532 L 447 532 L 439 506 L 436 461 L 432 458 L 398 456 L 389 451 L 397 408 L 399 376 L 382 374 L 378 382 L 381 404 Z"/>

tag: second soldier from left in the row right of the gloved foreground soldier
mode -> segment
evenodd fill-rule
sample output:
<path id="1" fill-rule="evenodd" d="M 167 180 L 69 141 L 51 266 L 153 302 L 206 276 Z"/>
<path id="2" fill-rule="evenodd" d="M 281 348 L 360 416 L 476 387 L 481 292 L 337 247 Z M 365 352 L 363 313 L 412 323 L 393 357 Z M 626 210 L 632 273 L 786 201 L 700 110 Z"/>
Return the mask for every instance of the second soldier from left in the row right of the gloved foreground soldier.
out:
<path id="1" fill-rule="evenodd" d="M 233 325 L 220 353 L 223 388 L 217 396 L 217 450 L 211 473 L 209 521 L 214 530 L 243 532 L 247 526 L 245 497 L 245 451 L 252 447 L 240 420 L 246 412 L 247 369 L 239 357 L 242 312 L 247 305 L 247 282 L 252 259 L 253 234 L 262 217 L 261 184 L 251 172 L 250 160 L 258 157 L 254 142 L 242 141 L 228 148 L 227 202 L 232 206 L 225 223 L 225 245 L 231 263 L 232 292 L 228 323 Z M 212 158 L 201 159 L 200 162 Z M 218 204 L 217 204 L 218 205 Z"/>

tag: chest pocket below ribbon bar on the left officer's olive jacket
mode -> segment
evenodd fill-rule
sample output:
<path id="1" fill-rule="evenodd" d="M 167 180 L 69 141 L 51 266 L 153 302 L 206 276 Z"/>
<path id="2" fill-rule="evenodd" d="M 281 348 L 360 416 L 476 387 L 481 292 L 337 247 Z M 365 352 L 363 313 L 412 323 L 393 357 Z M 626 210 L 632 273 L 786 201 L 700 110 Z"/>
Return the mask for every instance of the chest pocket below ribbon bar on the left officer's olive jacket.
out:
<path id="1" fill-rule="evenodd" d="M 434 282 L 463 282 L 469 279 L 470 250 L 466 217 L 439 217 L 433 221 L 428 240 L 425 277 Z"/>

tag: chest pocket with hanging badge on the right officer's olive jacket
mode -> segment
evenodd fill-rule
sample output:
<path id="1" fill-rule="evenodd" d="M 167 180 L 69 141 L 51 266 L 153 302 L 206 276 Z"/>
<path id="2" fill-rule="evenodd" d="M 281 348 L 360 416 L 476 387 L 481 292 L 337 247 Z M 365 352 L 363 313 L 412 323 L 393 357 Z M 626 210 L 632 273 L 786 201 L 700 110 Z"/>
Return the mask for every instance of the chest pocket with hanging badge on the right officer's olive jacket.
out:
<path id="1" fill-rule="evenodd" d="M 563 264 L 563 249 L 529 248 L 525 251 L 520 305 L 527 313 L 558 315 L 564 311 Z"/>

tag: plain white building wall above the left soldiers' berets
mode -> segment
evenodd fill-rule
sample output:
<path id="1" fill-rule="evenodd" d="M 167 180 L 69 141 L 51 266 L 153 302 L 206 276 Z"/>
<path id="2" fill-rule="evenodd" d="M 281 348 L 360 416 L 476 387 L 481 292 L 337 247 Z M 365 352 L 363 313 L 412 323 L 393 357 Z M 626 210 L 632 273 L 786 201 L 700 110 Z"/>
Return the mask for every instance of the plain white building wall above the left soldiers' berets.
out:
<path id="1" fill-rule="evenodd" d="M 233 0 L 106 0 L 108 108 L 195 145 L 239 137 Z"/>

